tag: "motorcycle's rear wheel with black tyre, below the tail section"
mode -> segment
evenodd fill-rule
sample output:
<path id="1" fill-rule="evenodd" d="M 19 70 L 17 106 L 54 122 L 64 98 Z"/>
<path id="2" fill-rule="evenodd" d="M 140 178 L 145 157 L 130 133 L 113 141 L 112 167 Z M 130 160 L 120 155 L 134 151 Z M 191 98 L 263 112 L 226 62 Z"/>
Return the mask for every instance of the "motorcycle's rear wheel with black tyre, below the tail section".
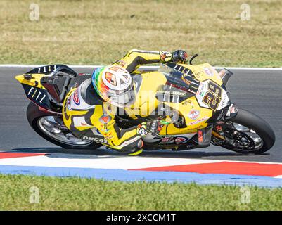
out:
<path id="1" fill-rule="evenodd" d="M 102 146 L 100 143 L 75 137 L 64 126 L 62 119 L 58 115 L 39 110 L 34 103 L 27 107 L 27 120 L 30 126 L 47 141 L 69 149 L 96 149 Z"/>

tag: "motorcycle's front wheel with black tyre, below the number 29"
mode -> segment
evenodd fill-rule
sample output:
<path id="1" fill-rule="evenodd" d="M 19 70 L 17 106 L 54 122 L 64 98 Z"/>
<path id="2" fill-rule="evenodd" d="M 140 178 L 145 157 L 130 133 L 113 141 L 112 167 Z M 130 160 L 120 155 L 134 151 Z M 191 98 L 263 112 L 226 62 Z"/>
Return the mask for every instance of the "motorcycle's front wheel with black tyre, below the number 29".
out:
<path id="1" fill-rule="evenodd" d="M 247 110 L 239 109 L 236 117 L 214 127 L 219 136 L 212 136 L 212 143 L 238 153 L 261 154 L 275 143 L 275 134 L 270 125 Z"/>

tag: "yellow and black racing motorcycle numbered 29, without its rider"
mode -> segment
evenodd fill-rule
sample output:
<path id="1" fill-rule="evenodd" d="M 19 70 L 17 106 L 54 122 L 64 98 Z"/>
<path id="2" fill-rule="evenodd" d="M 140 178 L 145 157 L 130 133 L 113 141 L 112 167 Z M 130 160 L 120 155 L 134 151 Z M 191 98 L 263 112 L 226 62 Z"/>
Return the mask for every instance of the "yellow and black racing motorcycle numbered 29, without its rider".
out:
<path id="1" fill-rule="evenodd" d="M 230 101 L 226 84 L 233 73 L 226 69 L 217 72 L 209 63 L 193 65 L 196 56 L 189 63 L 166 63 L 158 71 L 143 70 L 132 75 L 136 101 L 116 114 L 119 126 L 129 128 L 152 120 L 159 109 L 163 127 L 159 134 L 143 137 L 144 150 L 188 150 L 205 148 L 210 143 L 238 153 L 269 150 L 275 142 L 273 129 L 262 118 Z M 108 146 L 98 129 L 91 129 L 94 137 L 77 137 L 63 123 L 65 96 L 91 79 L 91 74 L 77 74 L 67 65 L 46 65 L 15 79 L 31 101 L 27 120 L 37 134 L 63 148 Z"/>

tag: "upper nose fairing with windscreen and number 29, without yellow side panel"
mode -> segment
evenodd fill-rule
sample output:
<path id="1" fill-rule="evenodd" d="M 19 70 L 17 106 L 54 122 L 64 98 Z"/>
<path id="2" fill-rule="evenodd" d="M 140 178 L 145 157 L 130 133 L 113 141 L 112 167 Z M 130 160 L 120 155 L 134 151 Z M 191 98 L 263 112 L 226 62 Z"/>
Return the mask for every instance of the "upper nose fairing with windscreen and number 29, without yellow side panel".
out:
<path id="1" fill-rule="evenodd" d="M 229 104 L 229 96 L 222 78 L 209 63 L 167 63 L 161 65 L 159 71 L 165 75 L 167 83 L 178 89 L 183 96 L 195 96 L 201 108 L 209 108 L 215 112 Z"/>

